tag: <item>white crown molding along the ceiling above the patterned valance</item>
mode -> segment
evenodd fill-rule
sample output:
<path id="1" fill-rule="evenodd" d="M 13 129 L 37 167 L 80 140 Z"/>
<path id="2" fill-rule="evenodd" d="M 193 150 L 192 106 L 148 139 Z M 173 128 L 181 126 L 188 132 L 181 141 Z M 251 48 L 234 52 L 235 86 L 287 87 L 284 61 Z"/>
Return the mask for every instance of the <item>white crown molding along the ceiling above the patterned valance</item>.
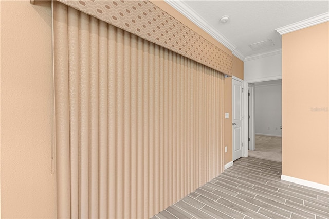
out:
<path id="1" fill-rule="evenodd" d="M 195 13 L 195 11 L 191 9 L 188 5 L 186 5 L 184 2 L 174 1 L 174 0 L 165 0 L 165 2 L 168 3 L 170 6 L 172 6 L 173 8 L 175 8 L 179 13 L 186 16 L 189 20 L 191 20 L 194 24 L 199 26 L 201 29 L 206 31 L 214 39 L 216 39 L 218 42 L 223 44 L 226 48 L 228 48 L 231 51 L 236 50 L 236 46 L 233 43 L 231 43 L 228 39 L 226 39 L 225 36 L 218 33 L 214 28 L 210 27 L 207 24 L 207 22 L 204 19 L 202 19 L 202 17 L 200 17 L 200 15 Z M 241 58 L 239 57 L 239 59 Z"/>

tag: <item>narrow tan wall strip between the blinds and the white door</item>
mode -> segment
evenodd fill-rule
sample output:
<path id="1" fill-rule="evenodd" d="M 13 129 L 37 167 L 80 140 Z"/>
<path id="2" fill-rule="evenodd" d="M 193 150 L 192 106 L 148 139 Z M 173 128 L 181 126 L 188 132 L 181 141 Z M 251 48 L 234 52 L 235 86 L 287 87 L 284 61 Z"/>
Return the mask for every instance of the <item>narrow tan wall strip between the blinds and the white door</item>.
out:
<path id="1" fill-rule="evenodd" d="M 243 61 L 239 58 L 233 58 L 233 76 L 243 80 Z M 225 79 L 224 85 L 224 111 L 229 113 L 229 118 L 224 120 L 224 145 L 227 146 L 227 152 L 224 155 L 224 163 L 232 161 L 232 77 Z"/>

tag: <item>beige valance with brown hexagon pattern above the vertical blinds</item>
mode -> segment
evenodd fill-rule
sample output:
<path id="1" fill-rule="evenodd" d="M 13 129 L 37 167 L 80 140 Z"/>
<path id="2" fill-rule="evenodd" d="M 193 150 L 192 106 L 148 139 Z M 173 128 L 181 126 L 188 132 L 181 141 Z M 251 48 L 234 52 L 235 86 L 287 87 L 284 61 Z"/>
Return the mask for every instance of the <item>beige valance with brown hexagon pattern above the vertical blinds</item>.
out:
<path id="1" fill-rule="evenodd" d="M 182 56 L 232 75 L 232 57 L 149 1 L 58 0 Z"/>

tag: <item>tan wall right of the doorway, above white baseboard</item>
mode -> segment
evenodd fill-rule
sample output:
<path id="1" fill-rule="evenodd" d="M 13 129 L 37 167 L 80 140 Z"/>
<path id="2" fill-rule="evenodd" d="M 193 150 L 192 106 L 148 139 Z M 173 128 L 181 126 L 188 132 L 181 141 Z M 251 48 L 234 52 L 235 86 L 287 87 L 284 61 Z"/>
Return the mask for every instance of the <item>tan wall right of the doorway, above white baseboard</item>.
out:
<path id="1" fill-rule="evenodd" d="M 329 185 L 328 33 L 326 22 L 282 36 L 282 173 L 324 185 Z"/>

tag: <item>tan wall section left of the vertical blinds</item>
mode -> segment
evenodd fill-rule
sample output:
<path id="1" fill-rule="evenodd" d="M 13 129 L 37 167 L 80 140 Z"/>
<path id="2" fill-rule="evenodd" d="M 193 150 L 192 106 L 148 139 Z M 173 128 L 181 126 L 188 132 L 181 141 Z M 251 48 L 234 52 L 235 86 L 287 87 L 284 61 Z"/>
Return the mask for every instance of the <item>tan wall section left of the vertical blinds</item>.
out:
<path id="1" fill-rule="evenodd" d="M 1 217 L 56 217 L 50 3 L 1 4 Z"/>

